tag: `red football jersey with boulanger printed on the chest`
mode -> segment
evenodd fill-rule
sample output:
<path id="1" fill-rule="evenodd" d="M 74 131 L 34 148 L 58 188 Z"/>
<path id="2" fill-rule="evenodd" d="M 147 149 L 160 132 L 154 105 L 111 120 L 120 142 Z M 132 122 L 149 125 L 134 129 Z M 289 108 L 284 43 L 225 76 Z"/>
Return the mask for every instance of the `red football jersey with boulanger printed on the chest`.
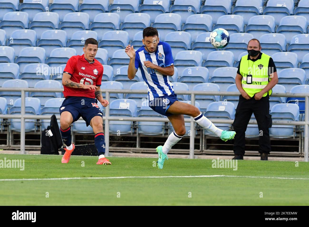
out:
<path id="1" fill-rule="evenodd" d="M 89 62 L 84 55 L 77 55 L 70 57 L 63 72 L 70 74 L 70 80 L 73 82 L 101 86 L 103 65 L 95 59 L 93 62 Z M 95 90 L 72 88 L 68 86 L 63 87 L 63 95 L 65 98 L 67 96 L 95 98 Z"/>

